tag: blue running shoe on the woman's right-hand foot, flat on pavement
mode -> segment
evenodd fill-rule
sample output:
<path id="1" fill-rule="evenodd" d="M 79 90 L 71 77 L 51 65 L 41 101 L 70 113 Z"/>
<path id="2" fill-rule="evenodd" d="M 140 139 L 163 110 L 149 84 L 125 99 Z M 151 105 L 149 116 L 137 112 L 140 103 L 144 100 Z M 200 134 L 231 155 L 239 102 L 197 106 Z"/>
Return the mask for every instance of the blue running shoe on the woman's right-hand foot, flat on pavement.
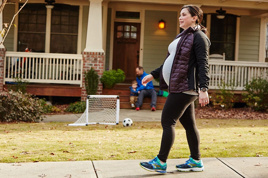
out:
<path id="1" fill-rule="evenodd" d="M 178 171 L 204 171 L 203 161 L 196 162 L 190 157 L 184 164 L 176 165 Z"/>

